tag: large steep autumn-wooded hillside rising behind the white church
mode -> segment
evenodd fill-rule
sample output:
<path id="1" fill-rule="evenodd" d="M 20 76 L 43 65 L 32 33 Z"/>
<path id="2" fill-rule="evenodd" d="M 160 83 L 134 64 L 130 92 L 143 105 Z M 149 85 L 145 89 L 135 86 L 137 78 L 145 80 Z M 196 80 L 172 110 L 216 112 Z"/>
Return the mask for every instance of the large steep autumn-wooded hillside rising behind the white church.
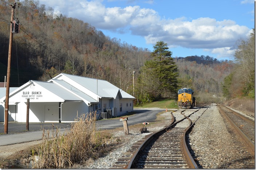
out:
<path id="1" fill-rule="evenodd" d="M 0 55 L 1 62 L 7 65 L 11 7 L 0 3 Z M 21 31 L 13 34 L 12 69 L 19 69 L 19 78 L 27 80 L 22 79 L 20 84 L 15 84 L 17 79 L 11 80 L 11 86 L 36 77 L 49 80 L 65 72 L 104 79 L 127 90 L 132 82 L 129 68 L 140 68 L 150 56 L 147 49 L 111 39 L 81 20 L 56 15 L 38 1 L 25 0 L 21 4 L 22 8 L 15 12 Z M 5 72 L 2 70 L 1 75 Z"/>

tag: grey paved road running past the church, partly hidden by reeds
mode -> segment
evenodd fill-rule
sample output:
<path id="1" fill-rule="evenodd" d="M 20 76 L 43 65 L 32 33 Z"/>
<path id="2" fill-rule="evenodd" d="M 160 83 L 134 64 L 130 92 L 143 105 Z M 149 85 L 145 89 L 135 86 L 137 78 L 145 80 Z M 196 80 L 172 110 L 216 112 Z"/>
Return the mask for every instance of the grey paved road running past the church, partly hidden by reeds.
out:
<path id="1" fill-rule="evenodd" d="M 133 116 L 128 117 L 127 124 L 135 125 L 143 122 L 152 122 L 156 120 L 156 114 L 165 109 L 135 109 Z M 123 116 L 125 117 L 125 116 Z M 65 128 L 70 127 L 70 123 L 29 123 L 29 131 L 26 130 L 26 123 L 8 122 L 8 134 L 4 134 L 4 123 L 0 122 L 0 146 L 11 145 L 15 143 L 23 143 L 40 140 L 42 138 L 42 130 L 52 129 L 52 126 L 60 128 L 60 132 L 64 132 Z M 123 122 L 119 119 L 104 119 L 96 121 L 97 129 L 114 129 L 122 127 Z"/>

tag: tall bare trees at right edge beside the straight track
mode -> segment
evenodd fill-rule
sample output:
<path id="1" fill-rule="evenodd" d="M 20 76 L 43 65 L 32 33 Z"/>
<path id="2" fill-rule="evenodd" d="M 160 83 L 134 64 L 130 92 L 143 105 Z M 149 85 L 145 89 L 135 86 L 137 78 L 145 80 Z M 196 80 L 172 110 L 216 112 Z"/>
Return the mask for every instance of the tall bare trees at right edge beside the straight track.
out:
<path id="1" fill-rule="evenodd" d="M 223 96 L 255 98 L 255 29 L 247 40 L 239 40 L 237 46 L 235 67 L 223 82 Z"/>

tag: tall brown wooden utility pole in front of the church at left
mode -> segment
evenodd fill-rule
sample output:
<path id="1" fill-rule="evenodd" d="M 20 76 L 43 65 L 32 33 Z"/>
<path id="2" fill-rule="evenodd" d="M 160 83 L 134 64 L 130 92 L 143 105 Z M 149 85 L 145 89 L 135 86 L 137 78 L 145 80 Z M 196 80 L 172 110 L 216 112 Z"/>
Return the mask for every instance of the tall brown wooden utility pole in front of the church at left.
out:
<path id="1" fill-rule="evenodd" d="M 6 84 L 6 98 L 5 98 L 5 112 L 4 112 L 4 133 L 8 133 L 8 111 L 9 111 L 9 89 L 10 89 L 10 74 L 11 74 L 11 56 L 12 56 L 12 23 L 14 17 L 14 9 L 16 3 L 10 5 L 12 7 L 11 26 L 10 26 L 10 40 L 9 40 L 9 52 L 8 52 L 8 66 L 7 66 L 7 84 Z"/>

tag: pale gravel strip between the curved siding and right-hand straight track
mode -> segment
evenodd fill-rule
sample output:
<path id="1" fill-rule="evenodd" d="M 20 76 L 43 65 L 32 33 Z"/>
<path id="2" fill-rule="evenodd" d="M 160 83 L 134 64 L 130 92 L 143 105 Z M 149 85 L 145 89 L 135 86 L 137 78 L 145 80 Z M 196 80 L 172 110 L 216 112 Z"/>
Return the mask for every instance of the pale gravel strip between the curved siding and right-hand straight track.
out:
<path id="1" fill-rule="evenodd" d="M 210 106 L 196 122 L 187 143 L 201 165 L 199 168 L 255 169 L 255 159 L 251 159 L 255 155 L 239 147 L 229 127 L 216 105 Z"/>

